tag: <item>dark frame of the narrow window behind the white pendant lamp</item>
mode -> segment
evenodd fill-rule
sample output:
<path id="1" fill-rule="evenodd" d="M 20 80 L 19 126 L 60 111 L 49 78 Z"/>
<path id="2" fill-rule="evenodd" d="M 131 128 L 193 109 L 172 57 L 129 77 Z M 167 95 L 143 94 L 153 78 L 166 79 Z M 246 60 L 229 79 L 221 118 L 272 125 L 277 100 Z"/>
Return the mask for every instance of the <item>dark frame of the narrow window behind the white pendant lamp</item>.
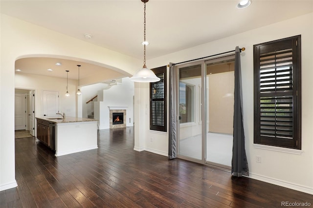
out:
<path id="1" fill-rule="evenodd" d="M 161 66 L 161 67 L 157 67 L 154 69 L 151 69 L 157 77 L 160 77 L 161 80 L 159 82 L 156 83 L 150 83 L 150 130 L 156 130 L 156 131 L 163 131 L 163 132 L 167 132 L 167 66 Z M 163 83 L 162 86 L 162 92 L 163 93 L 163 97 L 162 98 L 153 98 L 153 93 L 154 93 L 154 89 L 155 86 L 159 85 L 159 83 Z M 156 104 L 156 102 L 163 102 L 163 113 L 161 115 L 161 118 L 156 118 L 157 116 L 160 116 L 159 114 L 156 114 L 156 111 L 153 110 L 153 106 L 155 106 L 154 104 Z M 160 119 L 163 120 L 163 124 L 162 125 L 157 125 L 155 124 L 156 119 Z M 162 123 L 162 122 L 161 122 Z"/>

